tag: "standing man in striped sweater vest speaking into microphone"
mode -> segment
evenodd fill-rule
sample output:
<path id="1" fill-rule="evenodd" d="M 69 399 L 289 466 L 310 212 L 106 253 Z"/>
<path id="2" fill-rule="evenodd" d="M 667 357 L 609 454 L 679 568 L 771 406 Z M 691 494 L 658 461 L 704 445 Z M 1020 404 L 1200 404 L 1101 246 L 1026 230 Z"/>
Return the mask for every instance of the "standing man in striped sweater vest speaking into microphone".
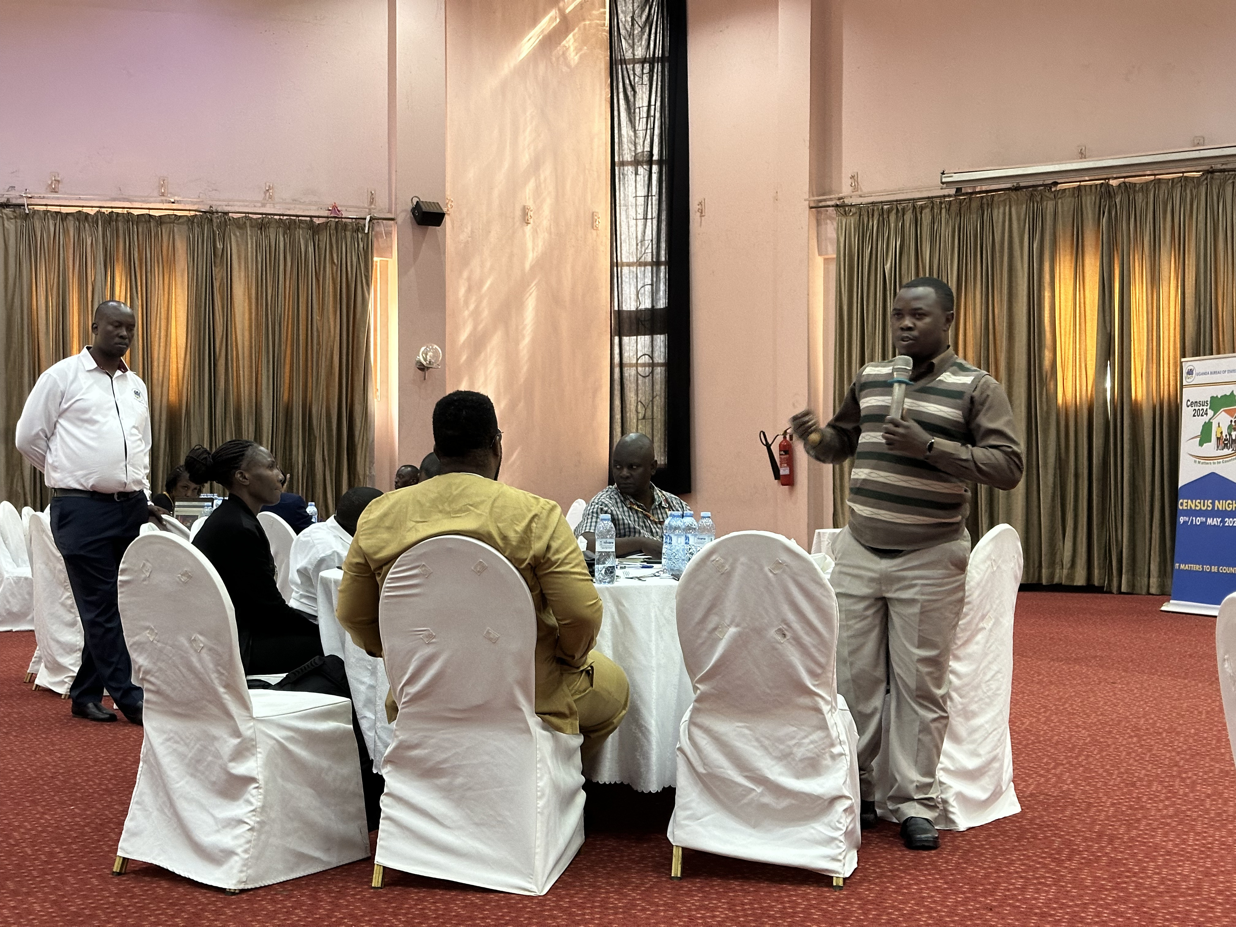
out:
<path id="1" fill-rule="evenodd" d="M 952 324 L 948 284 L 910 281 L 891 314 L 894 347 L 906 357 L 864 366 L 823 428 L 810 410 L 790 420 L 816 460 L 854 457 L 849 524 L 833 545 L 837 690 L 858 727 L 863 828 L 876 823 L 873 765 L 890 690 L 887 803 L 910 849 L 939 845 L 936 768 L 970 557 L 967 483 L 1012 489 L 1022 476 L 1009 397 L 953 352 Z"/>

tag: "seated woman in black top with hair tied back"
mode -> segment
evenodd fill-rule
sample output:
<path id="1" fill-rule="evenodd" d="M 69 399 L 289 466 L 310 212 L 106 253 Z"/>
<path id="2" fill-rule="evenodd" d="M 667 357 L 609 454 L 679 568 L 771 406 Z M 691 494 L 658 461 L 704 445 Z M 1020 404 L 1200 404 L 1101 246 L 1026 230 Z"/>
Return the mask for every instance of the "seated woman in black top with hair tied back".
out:
<path id="1" fill-rule="evenodd" d="M 318 625 L 279 595 L 271 543 L 257 520 L 262 506 L 279 501 L 283 475 L 274 457 L 255 441 L 227 441 L 214 454 L 199 444 L 184 466 L 199 486 L 215 482 L 227 489 L 193 545 L 219 571 L 231 596 L 245 672 L 290 672 L 321 656 Z"/>

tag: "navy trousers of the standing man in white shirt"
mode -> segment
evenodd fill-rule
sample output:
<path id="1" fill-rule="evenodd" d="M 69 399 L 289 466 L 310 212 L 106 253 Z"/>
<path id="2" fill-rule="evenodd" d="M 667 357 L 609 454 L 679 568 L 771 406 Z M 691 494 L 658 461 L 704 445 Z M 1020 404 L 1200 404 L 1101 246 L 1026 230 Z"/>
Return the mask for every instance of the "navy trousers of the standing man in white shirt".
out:
<path id="1" fill-rule="evenodd" d="M 148 517 L 143 493 L 124 501 L 82 496 L 52 499 L 52 536 L 64 557 L 85 635 L 82 669 L 69 690 L 74 705 L 103 701 L 104 688 L 121 711 L 142 703 L 120 625 L 116 577 L 120 557 Z"/>

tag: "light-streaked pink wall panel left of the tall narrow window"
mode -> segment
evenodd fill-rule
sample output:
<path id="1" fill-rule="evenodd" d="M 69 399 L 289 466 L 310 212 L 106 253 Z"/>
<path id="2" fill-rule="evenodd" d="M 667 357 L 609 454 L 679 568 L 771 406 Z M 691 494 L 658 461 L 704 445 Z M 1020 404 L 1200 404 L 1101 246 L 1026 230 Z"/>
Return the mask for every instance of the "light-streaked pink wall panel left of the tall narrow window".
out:
<path id="1" fill-rule="evenodd" d="M 451 0 L 446 61 L 446 386 L 493 398 L 503 482 L 565 509 L 608 461 L 604 0 Z"/>

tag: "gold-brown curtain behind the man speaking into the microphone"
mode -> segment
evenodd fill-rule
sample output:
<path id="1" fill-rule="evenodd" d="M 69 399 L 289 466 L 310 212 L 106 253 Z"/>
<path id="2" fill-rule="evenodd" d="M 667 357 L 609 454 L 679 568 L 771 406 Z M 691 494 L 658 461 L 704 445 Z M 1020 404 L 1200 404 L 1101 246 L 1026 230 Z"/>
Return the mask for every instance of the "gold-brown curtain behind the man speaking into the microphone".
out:
<path id="1" fill-rule="evenodd" d="M 897 287 L 948 282 L 954 346 L 1004 383 L 1026 454 L 1017 489 L 976 487 L 971 536 L 1012 524 L 1026 582 L 1166 595 L 1179 361 L 1236 350 L 1234 216 L 1222 173 L 839 210 L 836 399 L 891 355 Z"/>

